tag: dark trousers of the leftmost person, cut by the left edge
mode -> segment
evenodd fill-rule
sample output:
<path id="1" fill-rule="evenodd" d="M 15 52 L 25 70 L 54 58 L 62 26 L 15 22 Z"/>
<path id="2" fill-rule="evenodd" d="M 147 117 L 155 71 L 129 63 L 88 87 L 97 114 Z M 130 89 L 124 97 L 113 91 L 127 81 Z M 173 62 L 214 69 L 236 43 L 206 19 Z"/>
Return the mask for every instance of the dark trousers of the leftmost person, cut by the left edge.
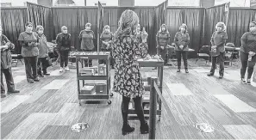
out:
<path id="1" fill-rule="evenodd" d="M 3 74 L 5 76 L 8 91 L 14 90 L 15 85 L 14 85 L 14 81 L 13 81 L 11 67 L 9 67 L 7 69 L 1 68 L 1 93 L 5 93 L 5 89 L 4 89 L 4 85 L 3 85 Z"/>

